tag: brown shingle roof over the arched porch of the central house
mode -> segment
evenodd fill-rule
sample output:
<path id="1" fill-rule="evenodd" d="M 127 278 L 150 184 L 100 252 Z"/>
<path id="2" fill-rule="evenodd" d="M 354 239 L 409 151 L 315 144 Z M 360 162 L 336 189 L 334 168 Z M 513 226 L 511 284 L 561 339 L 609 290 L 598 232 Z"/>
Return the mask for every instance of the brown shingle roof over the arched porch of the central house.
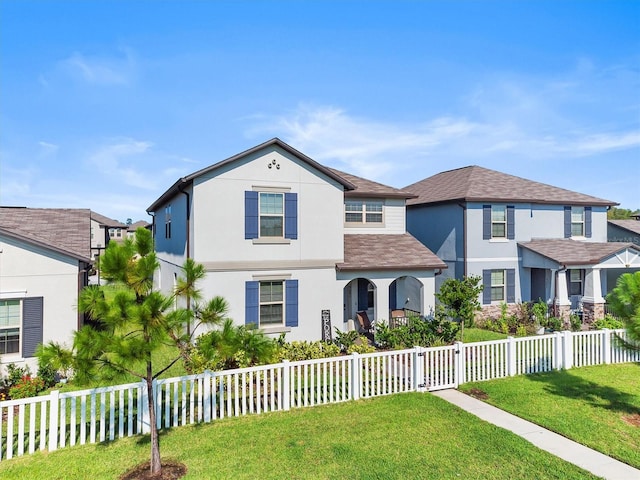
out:
<path id="1" fill-rule="evenodd" d="M 431 270 L 447 268 L 412 235 L 349 234 L 338 270 Z"/>

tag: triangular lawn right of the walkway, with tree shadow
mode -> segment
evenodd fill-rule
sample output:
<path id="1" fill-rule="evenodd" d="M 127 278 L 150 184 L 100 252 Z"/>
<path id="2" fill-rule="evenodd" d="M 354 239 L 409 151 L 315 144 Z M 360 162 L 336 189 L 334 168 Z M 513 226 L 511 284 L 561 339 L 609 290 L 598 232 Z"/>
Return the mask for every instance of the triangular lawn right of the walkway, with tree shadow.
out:
<path id="1" fill-rule="evenodd" d="M 640 468 L 640 364 L 469 383 L 486 402 Z"/>

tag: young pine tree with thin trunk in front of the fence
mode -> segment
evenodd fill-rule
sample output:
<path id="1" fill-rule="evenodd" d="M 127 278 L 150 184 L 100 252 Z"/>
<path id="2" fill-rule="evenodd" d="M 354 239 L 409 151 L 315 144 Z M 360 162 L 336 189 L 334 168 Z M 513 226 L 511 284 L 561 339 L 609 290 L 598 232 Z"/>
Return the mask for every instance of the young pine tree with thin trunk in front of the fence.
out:
<path id="1" fill-rule="evenodd" d="M 78 308 L 88 314 L 91 322 L 76 332 L 71 351 L 75 379 L 79 383 L 96 380 L 117 380 L 132 375 L 144 381 L 149 398 L 152 474 L 160 473 L 160 444 L 156 424 L 153 382 L 182 357 L 191 344 L 191 332 L 186 325 L 194 322 L 193 331 L 201 324 L 219 325 L 225 319 L 228 305 L 216 297 L 203 308 L 175 308 L 177 296 L 199 300 L 195 283 L 204 276 L 204 269 L 194 262 L 185 264 L 185 278 L 179 289 L 165 295 L 153 289 L 153 275 L 158 261 L 153 252 L 151 233 L 139 228 L 133 239 L 122 244 L 111 242 L 100 257 L 103 286 L 86 287 L 80 294 Z M 157 365 L 160 349 L 177 347 L 175 355 Z M 64 351 L 50 343 L 40 349 L 44 359 Z"/>

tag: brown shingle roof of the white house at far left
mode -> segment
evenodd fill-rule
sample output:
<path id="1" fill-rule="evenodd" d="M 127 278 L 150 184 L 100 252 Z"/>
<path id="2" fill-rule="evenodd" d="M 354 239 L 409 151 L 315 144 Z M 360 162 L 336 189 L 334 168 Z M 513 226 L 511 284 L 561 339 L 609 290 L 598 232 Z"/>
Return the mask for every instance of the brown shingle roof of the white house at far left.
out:
<path id="1" fill-rule="evenodd" d="M 3 234 L 91 263 L 91 211 L 0 207 Z"/>

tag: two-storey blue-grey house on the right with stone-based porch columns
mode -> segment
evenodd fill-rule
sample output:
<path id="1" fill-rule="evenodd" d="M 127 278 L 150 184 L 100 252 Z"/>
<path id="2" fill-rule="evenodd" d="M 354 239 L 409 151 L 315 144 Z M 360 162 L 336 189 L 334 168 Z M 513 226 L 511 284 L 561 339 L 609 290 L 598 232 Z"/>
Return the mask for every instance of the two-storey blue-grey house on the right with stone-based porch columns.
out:
<path id="1" fill-rule="evenodd" d="M 604 312 L 604 296 L 640 267 L 640 247 L 607 243 L 607 210 L 616 203 L 483 167 L 439 173 L 406 187 L 407 230 L 448 270 L 477 275 L 484 315 L 500 305 L 543 299 L 567 318 Z M 605 274 L 602 274 L 605 272 Z"/>

